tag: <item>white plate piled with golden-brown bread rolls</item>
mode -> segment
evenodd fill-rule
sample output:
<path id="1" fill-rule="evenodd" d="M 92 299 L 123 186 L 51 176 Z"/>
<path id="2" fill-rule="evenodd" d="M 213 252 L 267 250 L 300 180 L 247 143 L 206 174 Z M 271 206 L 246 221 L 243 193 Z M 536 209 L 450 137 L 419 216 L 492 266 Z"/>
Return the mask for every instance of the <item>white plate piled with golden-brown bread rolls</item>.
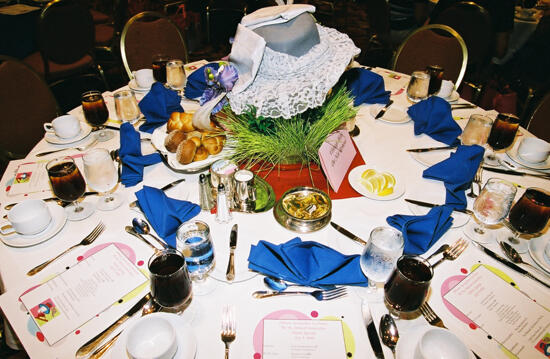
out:
<path id="1" fill-rule="evenodd" d="M 199 130 L 193 126 L 192 118 L 193 113 L 174 112 L 151 136 L 165 163 L 178 172 L 202 171 L 229 154 L 229 148 L 224 148 L 226 137 L 221 128 Z"/>

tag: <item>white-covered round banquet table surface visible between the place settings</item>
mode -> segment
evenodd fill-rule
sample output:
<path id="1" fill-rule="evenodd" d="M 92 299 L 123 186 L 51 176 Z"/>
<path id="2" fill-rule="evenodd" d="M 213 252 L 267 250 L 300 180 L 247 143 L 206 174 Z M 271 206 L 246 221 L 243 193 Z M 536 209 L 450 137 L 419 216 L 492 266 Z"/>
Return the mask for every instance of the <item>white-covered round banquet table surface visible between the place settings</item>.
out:
<path id="1" fill-rule="evenodd" d="M 408 82 L 408 76 L 393 73 L 389 70 L 376 68 L 373 71 L 383 76 L 386 89 L 392 92 L 394 106 L 402 108 L 403 111 L 410 104 L 407 102 L 404 88 Z M 110 124 L 117 126 L 115 112 L 113 108 L 112 93 L 105 93 L 111 117 Z M 464 102 L 459 100 L 459 102 Z M 183 107 L 193 106 L 188 101 L 183 102 Z M 195 105 L 196 106 L 196 105 Z M 445 201 L 445 188 L 442 182 L 422 178 L 422 172 L 427 166 L 418 159 L 413 158 L 407 148 L 422 147 L 435 143 L 427 136 L 415 136 L 413 132 L 413 122 L 388 123 L 381 120 L 374 120 L 371 114 L 370 105 L 363 105 L 357 116 L 357 125 L 360 128 L 359 136 L 355 137 L 355 143 L 370 168 L 390 171 L 397 178 L 398 183 L 405 185 L 404 195 L 389 201 L 380 201 L 358 196 L 343 200 L 334 200 L 332 202 L 332 220 L 342 227 L 345 227 L 354 234 L 367 239 L 370 231 L 376 226 L 387 225 L 386 217 L 394 214 L 413 214 L 418 208 L 407 205 L 404 198 L 418 199 L 432 203 L 443 203 Z M 76 108 L 72 111 L 81 120 L 83 120 L 82 110 Z M 454 110 L 453 116 L 458 123 L 464 127 L 470 114 L 485 113 L 479 108 Z M 495 117 L 494 112 L 488 113 Z M 116 132 L 116 131 L 115 131 Z M 117 132 L 118 133 L 118 132 Z M 149 136 L 142 134 L 143 137 Z M 524 130 L 518 136 L 530 136 Z M 81 143 L 85 144 L 87 138 Z M 420 144 L 420 146 L 419 146 Z M 45 140 L 40 141 L 29 153 L 28 157 L 22 161 L 13 161 L 10 163 L 7 171 L 2 178 L 2 186 L 6 188 L 11 184 L 16 169 L 24 162 L 34 162 L 37 160 L 36 153 L 59 148 L 59 145 L 53 145 Z M 116 149 L 119 147 L 118 135 L 114 139 L 95 145 L 95 147 L 105 147 Z M 148 142 L 142 143 L 144 153 L 151 153 L 154 149 Z M 66 151 L 63 154 L 77 154 L 78 151 Z M 506 156 L 505 154 L 501 154 Z M 44 160 L 53 158 L 55 155 L 43 157 Z M 534 177 L 517 177 L 509 175 L 498 175 L 487 171 L 483 172 L 483 181 L 490 177 L 502 177 L 517 182 L 522 186 L 537 186 L 548 188 L 548 182 Z M 114 322 L 123 313 L 125 313 L 138 297 L 143 296 L 148 288 L 143 292 L 122 305 L 114 305 L 105 312 L 90 320 L 78 330 L 69 333 L 65 338 L 50 346 L 44 341 L 44 338 L 33 330 L 29 324 L 29 317 L 24 309 L 18 304 L 18 297 L 26 289 L 41 283 L 53 275 L 65 270 L 66 267 L 73 265 L 78 257 L 86 253 L 89 248 L 79 247 L 69 254 L 61 257 L 45 270 L 34 277 L 27 277 L 26 272 L 45 259 L 60 253 L 69 246 L 78 243 L 99 221 L 105 223 L 106 231 L 91 245 L 99 246 L 106 243 L 119 243 L 128 247 L 135 258 L 136 265 L 143 270 L 147 270 L 147 260 L 153 251 L 143 242 L 127 234 L 124 230 L 126 225 L 131 223 L 133 217 L 143 215 L 135 210 L 131 210 L 128 203 L 135 200 L 134 193 L 142 188 L 143 185 L 160 188 L 174 180 L 184 178 L 185 181 L 177 187 L 170 189 L 167 195 L 173 198 L 187 199 L 198 203 L 198 175 L 181 174 L 170 170 L 163 163 L 145 168 L 144 180 L 135 187 L 119 188 L 118 193 L 125 196 L 125 203 L 111 212 L 95 211 L 95 213 L 79 222 L 67 222 L 64 228 L 51 239 L 40 244 L 26 248 L 14 248 L 0 243 L 0 274 L 4 283 L 6 292 L 0 296 L 0 306 L 13 326 L 25 350 L 31 358 L 72 358 L 76 350 L 87 340 L 94 337 L 97 333 L 105 329 L 110 323 Z M 344 179 L 347 180 L 347 179 Z M 518 190 L 516 198 L 519 198 L 522 189 Z M 2 206 L 2 215 L 5 214 L 4 206 L 7 203 L 16 202 L 25 198 L 46 198 L 50 197 L 50 192 L 38 192 L 30 194 L 9 195 L 6 190 L 0 194 L 0 203 Z M 87 197 L 84 201 L 97 201 L 95 197 Z M 471 199 L 468 199 L 468 207 L 471 208 Z M 259 214 L 234 213 L 233 220 L 227 224 L 218 224 L 214 221 L 214 215 L 209 212 L 201 212 L 195 219 L 203 220 L 209 224 L 212 232 L 212 238 L 215 246 L 216 267 L 212 272 L 210 289 L 212 291 L 206 295 L 194 295 L 190 306 L 181 315 L 192 327 L 192 332 L 196 338 L 198 359 L 211 359 L 222 357 L 224 353 L 224 344 L 220 340 L 221 312 L 225 304 L 232 304 L 236 308 L 237 337 L 231 345 L 231 357 L 240 359 L 259 359 L 262 358 L 262 339 L 263 339 L 263 320 L 268 319 L 333 319 L 340 320 L 344 328 L 344 341 L 346 353 L 342 353 L 341 358 L 374 358 L 374 353 L 369 345 L 369 340 L 365 330 L 361 315 L 361 304 L 367 301 L 372 309 L 374 322 L 376 326 L 381 316 L 387 312 L 383 304 L 383 291 L 381 288 L 375 293 L 366 293 L 363 288 L 348 287 L 348 295 L 332 301 L 316 301 L 309 296 L 289 296 L 275 297 L 267 299 L 255 299 L 251 293 L 256 290 L 265 289 L 263 276 L 256 275 L 247 271 L 247 258 L 250 246 L 256 244 L 259 240 L 266 240 L 272 243 L 284 243 L 299 236 L 302 240 L 312 240 L 330 246 L 344 254 L 360 254 L 362 247 L 346 238 L 331 226 L 327 226 L 317 232 L 308 234 L 296 234 L 282 226 L 274 219 L 273 212 L 268 211 Z M 466 221 L 468 218 L 466 218 Z M 442 238 L 432 246 L 426 255 L 435 251 L 444 243 L 452 243 L 457 239 L 464 237 L 463 227 L 457 221 L 455 227 L 448 230 Z M 236 280 L 233 283 L 227 283 L 223 280 L 225 277 L 225 268 L 229 255 L 229 233 L 234 223 L 239 224 L 238 245 L 235 252 Z M 495 233 L 505 235 L 506 229 L 496 229 Z M 500 231 L 500 232 L 499 232 Z M 548 231 L 537 241 L 548 241 L 550 234 Z M 488 247 L 499 252 L 496 243 L 489 243 Z M 535 264 L 528 254 L 524 254 L 524 259 Z M 550 290 L 540 286 L 538 283 L 529 280 L 518 273 L 513 272 L 502 264 L 487 257 L 475 246 L 470 245 L 466 251 L 455 261 L 446 261 L 439 265 L 435 271 L 435 276 L 431 285 L 431 294 L 429 304 L 434 311 L 445 322 L 445 325 L 483 358 L 507 358 L 506 354 L 499 349 L 499 343 L 490 339 L 480 330 L 472 330 L 465 325 L 461 318 L 451 313 L 442 299 L 442 289 L 449 278 L 464 276 L 472 268 L 479 264 L 487 264 L 499 271 L 512 277 L 521 290 L 539 303 L 548 304 Z M 535 264 L 536 265 L 536 264 Z M 410 320 L 399 320 L 398 327 L 401 338 L 413 338 L 414 333 L 419 330 L 425 330 L 428 323 L 418 317 Z M 184 338 L 183 340 L 193 340 Z M 403 345 L 398 344 L 398 352 L 408 352 L 404 347 L 407 345 L 403 340 Z M 414 343 L 413 343 L 414 344 Z M 119 344 L 121 345 L 121 344 Z M 408 345 L 411 345 L 410 343 Z M 120 348 L 114 348 L 116 350 Z M 110 350 L 105 354 L 106 358 L 115 357 L 116 350 Z M 391 357 L 391 352 L 384 347 L 386 358 Z M 403 354 L 401 354 L 403 358 Z"/>

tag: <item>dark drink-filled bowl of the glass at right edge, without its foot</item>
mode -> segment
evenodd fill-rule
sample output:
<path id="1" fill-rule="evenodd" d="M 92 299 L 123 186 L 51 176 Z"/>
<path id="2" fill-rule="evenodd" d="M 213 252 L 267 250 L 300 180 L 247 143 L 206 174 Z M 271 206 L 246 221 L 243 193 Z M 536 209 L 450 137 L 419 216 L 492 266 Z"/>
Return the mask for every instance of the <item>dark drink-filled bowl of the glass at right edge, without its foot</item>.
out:
<path id="1" fill-rule="evenodd" d="M 510 210 L 509 219 L 520 233 L 539 233 L 550 219 L 550 193 L 540 188 L 528 188 Z"/>

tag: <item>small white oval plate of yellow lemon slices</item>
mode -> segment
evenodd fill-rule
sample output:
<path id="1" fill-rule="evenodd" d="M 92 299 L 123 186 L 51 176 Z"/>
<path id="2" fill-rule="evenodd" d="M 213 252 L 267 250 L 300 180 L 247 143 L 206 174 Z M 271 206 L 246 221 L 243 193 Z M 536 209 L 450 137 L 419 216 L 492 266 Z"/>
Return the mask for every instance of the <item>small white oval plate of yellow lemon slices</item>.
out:
<path id="1" fill-rule="evenodd" d="M 391 201 L 405 193 L 405 183 L 392 173 L 362 165 L 352 169 L 348 181 L 363 196 L 378 201 Z"/>

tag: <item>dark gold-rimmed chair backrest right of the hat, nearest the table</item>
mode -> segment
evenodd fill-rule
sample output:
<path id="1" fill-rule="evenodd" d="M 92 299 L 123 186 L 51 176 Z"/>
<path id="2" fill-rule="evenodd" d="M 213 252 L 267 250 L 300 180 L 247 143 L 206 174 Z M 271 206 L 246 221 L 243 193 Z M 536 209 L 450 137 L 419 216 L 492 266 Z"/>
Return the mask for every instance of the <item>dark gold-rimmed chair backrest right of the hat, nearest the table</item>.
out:
<path id="1" fill-rule="evenodd" d="M 468 49 L 462 37 L 446 25 L 426 25 L 416 29 L 397 49 L 392 69 L 405 74 L 424 70 L 430 65 L 442 66 L 443 78 L 460 86 L 466 65 Z"/>

